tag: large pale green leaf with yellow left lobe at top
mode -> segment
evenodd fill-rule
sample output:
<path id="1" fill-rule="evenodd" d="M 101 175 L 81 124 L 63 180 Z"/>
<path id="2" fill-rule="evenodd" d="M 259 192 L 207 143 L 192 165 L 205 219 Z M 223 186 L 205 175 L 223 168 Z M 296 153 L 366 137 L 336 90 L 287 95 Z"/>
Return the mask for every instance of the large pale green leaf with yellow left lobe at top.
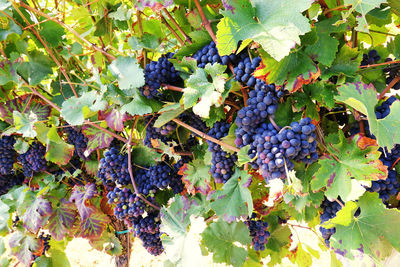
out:
<path id="1" fill-rule="evenodd" d="M 233 11 L 221 11 L 218 23 L 217 48 L 221 55 L 229 55 L 242 40 L 253 39 L 277 61 L 289 55 L 290 49 L 300 44 L 300 35 L 310 31 L 308 19 L 301 13 L 311 6 L 307 0 L 228 1 Z M 257 19 L 254 19 L 257 17 Z"/>

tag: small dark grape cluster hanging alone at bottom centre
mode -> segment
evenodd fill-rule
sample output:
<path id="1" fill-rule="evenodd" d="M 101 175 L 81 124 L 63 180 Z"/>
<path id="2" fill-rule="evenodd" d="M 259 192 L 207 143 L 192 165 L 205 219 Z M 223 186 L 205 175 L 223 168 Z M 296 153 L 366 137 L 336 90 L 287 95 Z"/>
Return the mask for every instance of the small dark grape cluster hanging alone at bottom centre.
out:
<path id="1" fill-rule="evenodd" d="M 267 231 L 268 223 L 257 219 L 255 213 L 253 213 L 251 218 L 248 218 L 244 223 L 250 231 L 250 236 L 252 238 L 251 244 L 253 245 L 254 250 L 265 250 L 265 245 L 268 243 L 268 238 L 271 236 Z"/>

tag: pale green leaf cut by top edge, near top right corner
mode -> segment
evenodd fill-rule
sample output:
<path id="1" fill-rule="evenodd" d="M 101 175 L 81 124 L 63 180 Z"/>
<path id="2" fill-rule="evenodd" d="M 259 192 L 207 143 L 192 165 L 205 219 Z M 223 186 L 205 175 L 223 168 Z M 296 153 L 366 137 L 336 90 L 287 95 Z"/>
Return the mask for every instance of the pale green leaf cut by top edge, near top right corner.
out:
<path id="1" fill-rule="evenodd" d="M 344 0 L 344 4 L 351 5 L 351 8 L 343 14 L 343 19 L 347 19 L 352 12 L 357 11 L 361 16 L 356 18 L 358 25 L 355 29 L 360 32 L 369 32 L 365 15 L 383 3 L 386 3 L 386 0 Z"/>

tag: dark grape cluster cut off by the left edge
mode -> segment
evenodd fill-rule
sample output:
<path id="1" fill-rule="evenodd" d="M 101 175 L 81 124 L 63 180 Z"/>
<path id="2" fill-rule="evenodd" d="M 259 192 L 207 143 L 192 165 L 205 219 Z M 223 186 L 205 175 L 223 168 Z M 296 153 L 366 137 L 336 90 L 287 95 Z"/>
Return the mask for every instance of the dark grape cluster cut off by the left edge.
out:
<path id="1" fill-rule="evenodd" d="M 0 175 L 13 172 L 13 164 L 17 155 L 14 144 L 15 139 L 12 136 L 3 136 L 0 139 Z"/>

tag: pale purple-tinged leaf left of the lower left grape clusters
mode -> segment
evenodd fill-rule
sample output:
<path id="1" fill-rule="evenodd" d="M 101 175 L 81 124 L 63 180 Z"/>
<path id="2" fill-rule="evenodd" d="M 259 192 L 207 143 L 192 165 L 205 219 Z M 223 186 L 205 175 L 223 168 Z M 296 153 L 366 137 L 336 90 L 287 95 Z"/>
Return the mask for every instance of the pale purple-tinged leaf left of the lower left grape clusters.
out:
<path id="1" fill-rule="evenodd" d="M 96 208 L 89 202 L 95 194 L 97 194 L 95 184 L 89 183 L 85 186 L 74 186 L 69 200 L 75 203 L 82 220 L 92 216 L 92 213 L 96 210 Z"/>

